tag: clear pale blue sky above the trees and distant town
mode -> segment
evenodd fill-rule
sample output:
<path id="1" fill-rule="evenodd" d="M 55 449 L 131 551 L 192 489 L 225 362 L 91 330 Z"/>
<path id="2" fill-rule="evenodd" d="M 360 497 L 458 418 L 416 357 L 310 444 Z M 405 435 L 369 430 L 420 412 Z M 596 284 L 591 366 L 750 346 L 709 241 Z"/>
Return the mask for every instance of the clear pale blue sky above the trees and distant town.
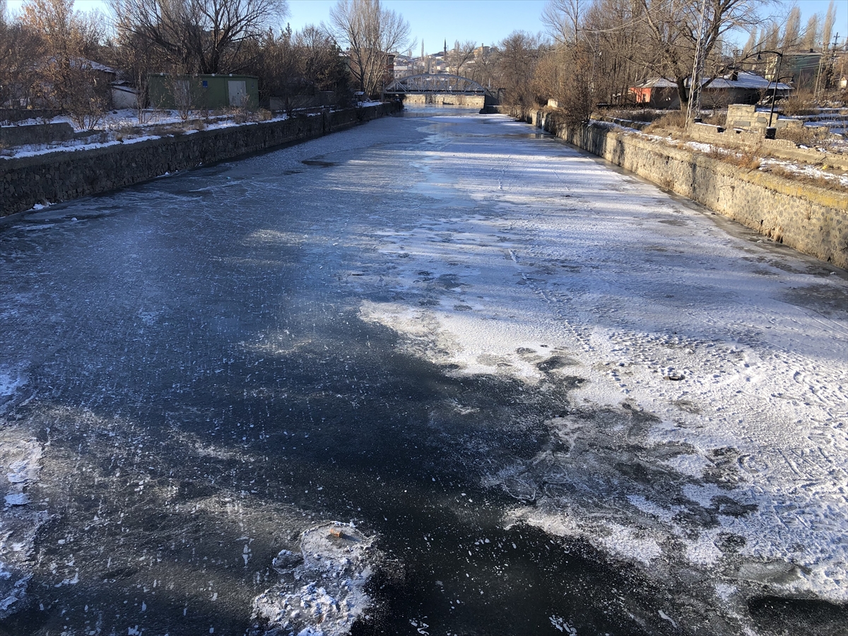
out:
<path id="1" fill-rule="evenodd" d="M 829 0 L 799 0 L 801 25 L 815 13 L 824 15 Z M 8 0 L 13 11 L 20 8 L 22 0 Z M 328 21 L 330 8 L 335 0 L 288 0 L 289 16 L 283 21 L 297 31 L 308 24 Z M 539 19 L 545 0 L 382 0 L 383 6 L 402 14 L 412 27 L 412 36 L 417 40 L 414 53 L 421 52 L 421 41 L 427 53 L 441 51 L 445 40 L 453 46 L 456 40 L 474 40 L 478 44 L 491 45 L 520 29 L 537 33 L 544 30 Z M 773 3 L 774 14 L 786 14 L 791 2 Z M 77 8 L 100 8 L 100 0 L 76 0 Z M 848 35 L 848 0 L 835 0 L 836 24 L 840 40 Z M 747 37 L 743 36 L 744 41 Z"/>

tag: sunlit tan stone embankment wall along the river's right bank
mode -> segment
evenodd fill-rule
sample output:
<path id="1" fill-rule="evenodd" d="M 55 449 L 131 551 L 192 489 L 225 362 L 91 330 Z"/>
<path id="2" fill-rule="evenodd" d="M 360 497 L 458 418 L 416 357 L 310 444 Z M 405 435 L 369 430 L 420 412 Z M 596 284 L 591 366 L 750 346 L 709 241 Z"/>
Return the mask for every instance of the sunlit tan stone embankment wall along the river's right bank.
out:
<path id="1" fill-rule="evenodd" d="M 745 170 L 688 148 L 603 125 L 568 128 L 549 112 L 538 111 L 523 119 L 778 243 L 848 269 L 848 194 L 844 190 Z"/>

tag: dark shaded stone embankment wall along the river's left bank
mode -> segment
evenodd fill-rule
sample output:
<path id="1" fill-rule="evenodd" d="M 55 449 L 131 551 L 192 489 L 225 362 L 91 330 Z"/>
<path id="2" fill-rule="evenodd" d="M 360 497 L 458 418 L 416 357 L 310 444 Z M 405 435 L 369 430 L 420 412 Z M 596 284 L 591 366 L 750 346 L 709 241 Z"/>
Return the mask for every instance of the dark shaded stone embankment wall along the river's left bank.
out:
<path id="1" fill-rule="evenodd" d="M 321 137 L 391 114 L 395 103 L 197 131 L 105 148 L 0 159 L 0 217 L 148 181 L 166 172 Z"/>

